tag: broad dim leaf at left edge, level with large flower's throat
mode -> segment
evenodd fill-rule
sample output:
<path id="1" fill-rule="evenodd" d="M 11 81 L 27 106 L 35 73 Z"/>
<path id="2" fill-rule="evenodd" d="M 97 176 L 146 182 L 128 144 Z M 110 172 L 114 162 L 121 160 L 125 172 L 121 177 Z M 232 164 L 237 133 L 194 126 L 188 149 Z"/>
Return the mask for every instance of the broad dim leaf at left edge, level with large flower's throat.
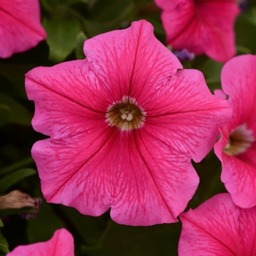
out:
<path id="1" fill-rule="evenodd" d="M 19 102 L 0 92 L 0 127 L 8 123 L 31 124 L 31 115 Z"/>

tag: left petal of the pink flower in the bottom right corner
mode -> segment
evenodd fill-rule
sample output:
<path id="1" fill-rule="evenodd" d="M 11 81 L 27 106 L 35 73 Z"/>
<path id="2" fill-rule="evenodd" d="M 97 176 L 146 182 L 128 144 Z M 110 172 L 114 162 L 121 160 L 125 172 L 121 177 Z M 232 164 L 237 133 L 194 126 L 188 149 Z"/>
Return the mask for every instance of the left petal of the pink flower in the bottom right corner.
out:
<path id="1" fill-rule="evenodd" d="M 179 256 L 233 256 L 239 253 L 238 208 L 230 195 L 219 194 L 180 215 Z M 244 254 L 242 254 L 244 255 Z"/>

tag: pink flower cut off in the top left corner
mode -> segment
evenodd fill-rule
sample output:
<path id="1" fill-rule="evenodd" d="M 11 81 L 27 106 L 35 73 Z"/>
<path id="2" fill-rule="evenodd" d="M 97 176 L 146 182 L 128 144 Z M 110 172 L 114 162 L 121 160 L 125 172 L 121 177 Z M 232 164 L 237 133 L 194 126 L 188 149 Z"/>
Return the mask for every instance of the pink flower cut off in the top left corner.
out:
<path id="1" fill-rule="evenodd" d="M 45 37 L 38 0 L 0 0 L 0 58 L 29 50 Z"/>

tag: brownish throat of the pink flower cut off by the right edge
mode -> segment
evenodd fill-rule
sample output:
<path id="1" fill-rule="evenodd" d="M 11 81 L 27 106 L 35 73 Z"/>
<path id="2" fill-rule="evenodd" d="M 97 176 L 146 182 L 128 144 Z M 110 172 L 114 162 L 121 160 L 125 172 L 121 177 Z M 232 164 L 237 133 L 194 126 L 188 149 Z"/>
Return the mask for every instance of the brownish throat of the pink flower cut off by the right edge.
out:
<path id="1" fill-rule="evenodd" d="M 247 129 L 246 124 L 241 124 L 230 133 L 227 145 L 223 151 L 230 156 L 236 156 L 244 153 L 254 142 L 255 138 L 253 137 L 252 130 Z"/>

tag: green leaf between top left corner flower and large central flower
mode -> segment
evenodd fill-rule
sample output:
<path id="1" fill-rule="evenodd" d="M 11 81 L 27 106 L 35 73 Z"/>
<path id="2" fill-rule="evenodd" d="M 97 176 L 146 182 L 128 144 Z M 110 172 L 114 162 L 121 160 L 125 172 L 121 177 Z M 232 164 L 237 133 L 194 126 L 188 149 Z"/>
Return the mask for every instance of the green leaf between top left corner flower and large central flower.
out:
<path id="1" fill-rule="evenodd" d="M 47 32 L 46 42 L 49 45 L 49 59 L 61 62 L 75 49 L 76 38 L 80 31 L 79 24 L 72 18 L 58 16 L 44 19 L 43 25 Z"/>

